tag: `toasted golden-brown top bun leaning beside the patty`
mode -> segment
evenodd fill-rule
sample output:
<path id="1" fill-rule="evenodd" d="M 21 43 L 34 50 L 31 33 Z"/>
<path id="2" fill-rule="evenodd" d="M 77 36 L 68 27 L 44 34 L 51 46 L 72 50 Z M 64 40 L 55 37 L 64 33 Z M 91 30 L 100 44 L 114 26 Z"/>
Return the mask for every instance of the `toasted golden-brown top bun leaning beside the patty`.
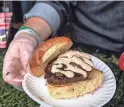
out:
<path id="1" fill-rule="evenodd" d="M 66 52 L 72 41 L 67 37 L 55 37 L 42 43 L 33 53 L 30 69 L 34 76 L 41 76 L 47 64 L 58 55 Z"/>

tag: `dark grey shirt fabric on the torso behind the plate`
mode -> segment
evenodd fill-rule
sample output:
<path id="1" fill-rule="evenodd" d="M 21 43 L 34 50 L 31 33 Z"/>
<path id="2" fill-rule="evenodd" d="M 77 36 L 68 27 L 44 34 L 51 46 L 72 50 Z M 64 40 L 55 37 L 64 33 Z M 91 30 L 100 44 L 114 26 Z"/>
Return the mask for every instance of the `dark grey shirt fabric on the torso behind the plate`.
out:
<path id="1" fill-rule="evenodd" d="M 123 1 L 63 2 L 47 3 L 58 11 L 61 22 L 64 18 L 69 19 L 74 42 L 115 52 L 124 51 Z M 68 8 L 71 11 L 67 11 Z M 71 17 L 69 12 L 72 12 Z"/>

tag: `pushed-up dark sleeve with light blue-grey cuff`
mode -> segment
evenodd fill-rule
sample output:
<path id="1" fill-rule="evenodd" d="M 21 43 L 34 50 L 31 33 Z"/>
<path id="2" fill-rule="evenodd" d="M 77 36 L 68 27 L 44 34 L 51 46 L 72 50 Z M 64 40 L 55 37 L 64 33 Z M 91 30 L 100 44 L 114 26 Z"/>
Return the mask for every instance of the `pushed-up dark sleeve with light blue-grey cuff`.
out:
<path id="1" fill-rule="evenodd" d="M 67 15 L 65 13 L 67 11 L 62 2 L 36 2 L 33 8 L 25 14 L 24 20 L 30 17 L 40 17 L 50 25 L 52 33 L 55 33 Z"/>

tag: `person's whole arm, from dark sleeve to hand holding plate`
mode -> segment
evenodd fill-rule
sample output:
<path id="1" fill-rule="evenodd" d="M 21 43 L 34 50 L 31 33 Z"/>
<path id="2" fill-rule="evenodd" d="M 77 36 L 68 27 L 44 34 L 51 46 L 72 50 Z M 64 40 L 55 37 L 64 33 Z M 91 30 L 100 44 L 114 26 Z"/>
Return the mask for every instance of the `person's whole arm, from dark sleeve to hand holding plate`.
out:
<path id="1" fill-rule="evenodd" d="M 31 11 L 25 15 L 26 22 L 24 26 L 33 29 L 38 35 L 31 35 L 22 31 L 15 36 L 7 50 L 3 64 L 3 79 L 13 86 L 21 86 L 24 75 L 30 72 L 30 58 L 32 52 L 39 45 L 35 36 L 44 41 L 65 22 L 67 13 L 63 4 L 60 2 L 47 3 L 36 3 Z M 43 5 L 45 5 L 44 8 Z M 46 11 L 46 7 L 47 9 L 50 8 Z"/>

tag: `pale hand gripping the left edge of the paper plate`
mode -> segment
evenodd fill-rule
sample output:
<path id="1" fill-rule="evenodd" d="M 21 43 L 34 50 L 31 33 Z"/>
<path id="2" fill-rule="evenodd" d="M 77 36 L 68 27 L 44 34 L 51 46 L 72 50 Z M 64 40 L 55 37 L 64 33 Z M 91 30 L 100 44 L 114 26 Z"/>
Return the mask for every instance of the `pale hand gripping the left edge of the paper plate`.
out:
<path id="1" fill-rule="evenodd" d="M 10 43 L 3 63 L 3 79 L 10 85 L 20 87 L 22 79 L 30 72 L 30 59 L 37 43 L 34 37 L 20 33 Z"/>

